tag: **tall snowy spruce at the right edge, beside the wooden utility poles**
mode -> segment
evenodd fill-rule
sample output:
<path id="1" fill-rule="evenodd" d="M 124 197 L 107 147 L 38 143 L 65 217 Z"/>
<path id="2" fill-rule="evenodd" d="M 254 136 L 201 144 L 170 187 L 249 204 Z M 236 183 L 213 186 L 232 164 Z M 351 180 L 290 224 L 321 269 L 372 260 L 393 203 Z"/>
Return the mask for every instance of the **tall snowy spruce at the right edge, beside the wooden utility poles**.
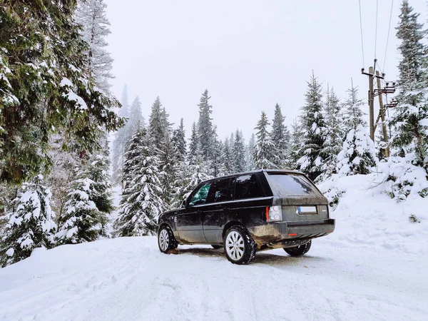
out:
<path id="1" fill-rule="evenodd" d="M 397 156 L 413 155 L 412 164 L 425 168 L 428 173 L 428 103 L 427 71 L 423 67 L 427 60 L 426 48 L 422 43 L 424 30 L 417 22 L 419 14 L 412 13 L 409 2 L 402 2 L 397 38 L 402 55 L 399 62 L 399 105 L 394 108 L 391 124 L 395 128 L 392 146 Z"/>

